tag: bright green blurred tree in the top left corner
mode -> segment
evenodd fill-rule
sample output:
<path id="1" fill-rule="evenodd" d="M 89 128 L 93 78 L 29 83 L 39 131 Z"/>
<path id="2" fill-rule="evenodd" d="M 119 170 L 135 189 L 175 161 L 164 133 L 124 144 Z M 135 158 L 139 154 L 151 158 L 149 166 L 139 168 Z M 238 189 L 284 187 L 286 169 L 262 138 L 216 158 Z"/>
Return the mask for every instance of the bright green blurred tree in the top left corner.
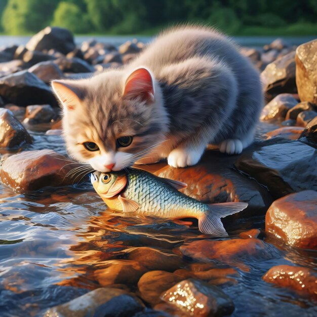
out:
<path id="1" fill-rule="evenodd" d="M 59 0 L 9 0 L 2 25 L 8 34 L 37 32 L 50 25 Z"/>

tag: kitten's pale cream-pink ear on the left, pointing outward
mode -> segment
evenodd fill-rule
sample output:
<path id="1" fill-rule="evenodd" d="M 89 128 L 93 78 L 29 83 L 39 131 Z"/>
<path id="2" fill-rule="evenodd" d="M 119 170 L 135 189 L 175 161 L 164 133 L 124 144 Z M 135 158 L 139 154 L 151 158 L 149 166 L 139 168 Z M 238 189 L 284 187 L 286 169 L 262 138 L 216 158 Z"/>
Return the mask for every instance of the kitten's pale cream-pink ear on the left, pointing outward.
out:
<path id="1" fill-rule="evenodd" d="M 84 99 L 84 91 L 76 82 L 52 81 L 52 88 L 64 109 L 75 110 Z"/>

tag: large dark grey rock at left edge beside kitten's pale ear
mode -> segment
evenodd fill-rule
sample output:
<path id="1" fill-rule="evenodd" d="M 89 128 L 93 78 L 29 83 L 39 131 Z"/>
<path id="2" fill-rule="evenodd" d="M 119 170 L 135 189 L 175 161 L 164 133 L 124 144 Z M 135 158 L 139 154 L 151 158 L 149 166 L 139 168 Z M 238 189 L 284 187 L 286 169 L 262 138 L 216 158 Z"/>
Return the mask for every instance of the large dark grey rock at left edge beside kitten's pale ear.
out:
<path id="1" fill-rule="evenodd" d="M 58 106 L 52 90 L 27 70 L 0 78 L 0 95 L 19 106 L 39 103 Z"/>

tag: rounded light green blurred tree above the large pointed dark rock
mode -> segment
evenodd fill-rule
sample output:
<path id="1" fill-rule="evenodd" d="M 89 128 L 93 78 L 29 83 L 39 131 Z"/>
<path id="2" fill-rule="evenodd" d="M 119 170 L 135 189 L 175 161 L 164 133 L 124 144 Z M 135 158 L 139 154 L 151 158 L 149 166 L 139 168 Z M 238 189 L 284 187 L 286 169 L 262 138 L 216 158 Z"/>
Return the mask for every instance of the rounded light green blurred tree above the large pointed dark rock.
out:
<path id="1" fill-rule="evenodd" d="M 65 27 L 74 33 L 85 33 L 91 30 L 88 15 L 72 2 L 62 1 L 58 4 L 52 25 Z"/>

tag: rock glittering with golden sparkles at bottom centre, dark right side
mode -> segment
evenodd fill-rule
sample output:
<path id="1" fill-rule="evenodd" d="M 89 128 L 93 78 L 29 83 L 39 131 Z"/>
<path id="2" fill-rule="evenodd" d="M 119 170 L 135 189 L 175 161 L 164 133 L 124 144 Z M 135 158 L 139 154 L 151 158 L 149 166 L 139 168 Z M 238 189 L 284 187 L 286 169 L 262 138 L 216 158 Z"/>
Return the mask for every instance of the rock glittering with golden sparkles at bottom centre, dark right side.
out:
<path id="1" fill-rule="evenodd" d="M 232 300 L 221 289 L 194 279 L 177 283 L 162 299 L 190 316 L 222 316 L 234 310 Z"/>

